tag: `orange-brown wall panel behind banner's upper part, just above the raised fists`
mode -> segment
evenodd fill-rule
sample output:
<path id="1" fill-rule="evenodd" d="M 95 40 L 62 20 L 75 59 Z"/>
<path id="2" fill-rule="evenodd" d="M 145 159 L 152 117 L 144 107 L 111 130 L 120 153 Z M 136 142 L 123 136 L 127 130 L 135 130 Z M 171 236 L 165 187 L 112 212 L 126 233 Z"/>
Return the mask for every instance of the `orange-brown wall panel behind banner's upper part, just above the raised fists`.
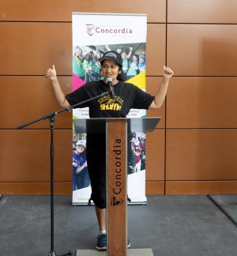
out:
<path id="1" fill-rule="evenodd" d="M 71 30 L 70 23 L 0 23 L 0 37 L 5 38 L 0 43 L 0 74 L 42 75 L 55 64 L 58 75 L 70 75 Z M 146 56 L 147 75 L 162 75 L 165 65 L 164 24 L 148 25 Z M 13 60 L 17 69 L 13 69 Z"/>

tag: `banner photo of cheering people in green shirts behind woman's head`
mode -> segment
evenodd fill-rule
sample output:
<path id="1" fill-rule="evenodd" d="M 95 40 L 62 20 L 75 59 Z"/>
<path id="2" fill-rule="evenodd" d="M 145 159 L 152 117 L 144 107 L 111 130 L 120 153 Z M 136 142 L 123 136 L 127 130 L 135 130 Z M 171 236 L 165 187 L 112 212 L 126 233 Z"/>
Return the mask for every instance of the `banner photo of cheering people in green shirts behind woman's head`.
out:
<path id="1" fill-rule="evenodd" d="M 107 51 L 117 51 L 122 56 L 122 72 L 124 81 L 135 77 L 145 71 L 145 43 L 130 43 L 130 45 L 94 45 L 94 46 L 75 46 L 73 47 L 73 79 L 80 87 L 83 82 L 99 81 L 103 79 L 100 72 L 99 58 Z M 79 78 L 79 79 L 77 79 Z"/>

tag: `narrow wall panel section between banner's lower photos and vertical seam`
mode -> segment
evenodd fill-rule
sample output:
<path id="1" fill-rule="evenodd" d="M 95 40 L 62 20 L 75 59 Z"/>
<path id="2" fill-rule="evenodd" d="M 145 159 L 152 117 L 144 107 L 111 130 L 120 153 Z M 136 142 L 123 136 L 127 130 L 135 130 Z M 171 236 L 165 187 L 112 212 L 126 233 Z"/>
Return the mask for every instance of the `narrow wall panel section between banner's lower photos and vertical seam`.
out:
<path id="1" fill-rule="evenodd" d="M 145 179 L 164 180 L 164 130 L 146 134 Z"/>

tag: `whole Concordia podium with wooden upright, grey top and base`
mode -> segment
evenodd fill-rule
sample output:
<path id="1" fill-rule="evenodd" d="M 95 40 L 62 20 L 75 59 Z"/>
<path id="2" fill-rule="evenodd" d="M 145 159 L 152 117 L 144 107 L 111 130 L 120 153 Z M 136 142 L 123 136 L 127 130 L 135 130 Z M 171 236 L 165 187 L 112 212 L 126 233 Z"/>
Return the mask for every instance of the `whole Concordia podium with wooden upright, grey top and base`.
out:
<path id="1" fill-rule="evenodd" d="M 77 250 L 77 256 L 153 256 L 151 249 L 127 249 L 127 133 L 152 132 L 160 118 L 73 119 L 77 134 L 106 134 L 107 250 Z"/>

